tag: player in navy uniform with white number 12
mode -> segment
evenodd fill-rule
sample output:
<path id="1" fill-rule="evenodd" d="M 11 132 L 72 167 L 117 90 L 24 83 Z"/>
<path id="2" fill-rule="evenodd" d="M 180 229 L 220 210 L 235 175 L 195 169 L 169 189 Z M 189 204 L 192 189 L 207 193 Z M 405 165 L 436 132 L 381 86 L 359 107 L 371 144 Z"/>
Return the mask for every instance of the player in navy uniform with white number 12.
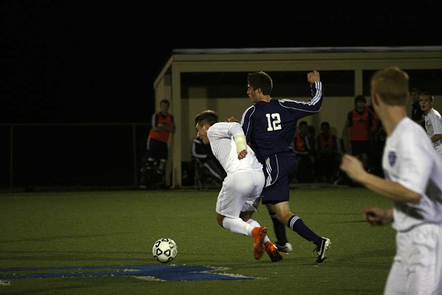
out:
<path id="1" fill-rule="evenodd" d="M 285 235 L 285 224 L 313 242 L 318 254 L 316 261 L 323 262 L 331 244 L 330 239 L 316 235 L 289 208 L 289 184 L 298 170 L 296 155 L 290 143 L 298 119 L 318 113 L 324 98 L 319 73 L 308 73 L 307 81 L 311 88 L 309 102 L 277 100 L 270 97 L 273 82 L 268 74 L 249 74 L 247 94 L 254 105 L 244 112 L 241 125 L 249 146 L 264 166 L 266 184 L 262 192 L 262 204 L 267 206 L 274 222 L 276 245 L 282 252 L 291 250 Z"/>

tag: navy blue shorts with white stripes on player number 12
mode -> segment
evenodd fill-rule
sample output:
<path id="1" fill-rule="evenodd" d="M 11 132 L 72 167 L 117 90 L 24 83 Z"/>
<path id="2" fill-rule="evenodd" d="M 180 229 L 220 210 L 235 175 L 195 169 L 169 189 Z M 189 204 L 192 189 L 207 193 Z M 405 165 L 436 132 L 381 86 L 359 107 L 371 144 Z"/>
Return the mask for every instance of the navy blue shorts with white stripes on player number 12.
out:
<path id="1" fill-rule="evenodd" d="M 296 155 L 291 152 L 272 155 L 264 160 L 266 183 L 262 190 L 262 204 L 289 201 L 290 180 L 298 171 Z"/>

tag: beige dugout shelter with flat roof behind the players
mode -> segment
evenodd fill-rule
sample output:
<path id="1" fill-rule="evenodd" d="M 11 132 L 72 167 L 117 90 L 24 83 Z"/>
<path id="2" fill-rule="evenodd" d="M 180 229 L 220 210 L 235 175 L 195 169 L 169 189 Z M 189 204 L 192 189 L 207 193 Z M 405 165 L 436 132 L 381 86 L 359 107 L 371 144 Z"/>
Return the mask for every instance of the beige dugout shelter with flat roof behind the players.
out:
<path id="1" fill-rule="evenodd" d="M 434 108 L 442 111 L 442 46 L 173 50 L 153 84 L 155 109 L 168 99 L 177 126 L 169 141 L 170 184 L 182 186 L 182 163 L 192 155 L 193 119 L 198 113 L 211 109 L 220 120 L 232 116 L 240 120 L 251 105 L 246 94 L 248 73 L 265 71 L 272 77 L 272 98 L 306 101 L 310 95 L 306 73 L 318 70 L 324 103 L 319 114 L 304 120 L 315 127 L 316 134 L 321 122 L 328 121 L 346 142 L 345 121 L 354 109 L 355 96 L 364 95 L 369 105 L 371 75 L 387 66 L 405 70 L 410 87 L 431 92 Z"/>

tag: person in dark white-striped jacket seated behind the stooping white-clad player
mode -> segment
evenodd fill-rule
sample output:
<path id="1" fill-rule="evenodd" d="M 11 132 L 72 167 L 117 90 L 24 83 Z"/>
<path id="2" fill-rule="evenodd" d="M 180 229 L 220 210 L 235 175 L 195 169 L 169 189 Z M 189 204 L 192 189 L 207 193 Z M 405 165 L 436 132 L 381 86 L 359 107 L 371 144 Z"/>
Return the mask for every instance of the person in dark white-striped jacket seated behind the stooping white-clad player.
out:
<path id="1" fill-rule="evenodd" d="M 199 160 L 203 168 L 202 171 L 195 171 L 195 173 L 201 173 L 200 175 L 208 174 L 209 177 L 212 177 L 220 184 L 224 181 L 227 175 L 220 162 L 213 155 L 210 145 L 204 145 L 199 138 L 195 138 L 192 143 L 192 156 Z"/>

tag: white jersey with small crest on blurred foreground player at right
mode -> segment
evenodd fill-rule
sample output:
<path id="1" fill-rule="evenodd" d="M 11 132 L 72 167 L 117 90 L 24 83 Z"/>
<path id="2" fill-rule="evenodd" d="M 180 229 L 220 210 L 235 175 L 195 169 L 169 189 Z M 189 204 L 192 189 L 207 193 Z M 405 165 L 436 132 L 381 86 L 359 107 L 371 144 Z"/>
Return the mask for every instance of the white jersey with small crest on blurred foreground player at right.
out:
<path id="1" fill-rule="evenodd" d="M 395 230 L 442 223 L 442 160 L 422 127 L 410 118 L 403 118 L 387 138 L 382 166 L 387 180 L 422 196 L 417 205 L 395 202 Z"/>

